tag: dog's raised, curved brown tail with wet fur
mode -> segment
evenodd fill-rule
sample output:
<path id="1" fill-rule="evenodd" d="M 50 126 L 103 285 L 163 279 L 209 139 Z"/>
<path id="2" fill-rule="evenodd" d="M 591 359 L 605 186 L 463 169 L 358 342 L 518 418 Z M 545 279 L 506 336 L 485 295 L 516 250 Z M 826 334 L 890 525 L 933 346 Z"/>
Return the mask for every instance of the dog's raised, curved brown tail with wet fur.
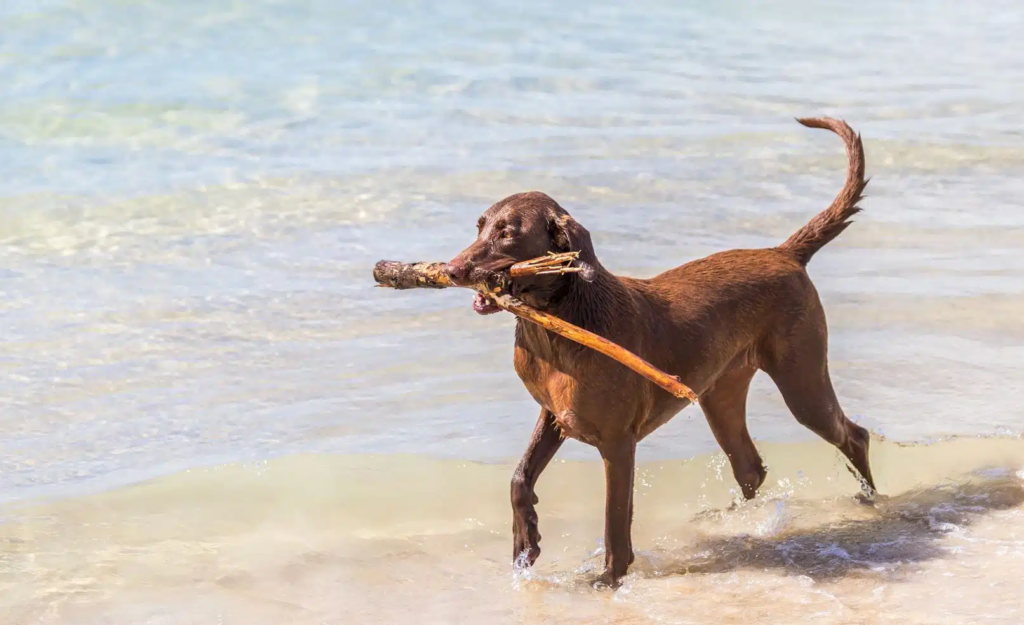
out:
<path id="1" fill-rule="evenodd" d="M 846 122 L 822 118 L 799 118 L 801 124 L 809 128 L 827 128 L 843 138 L 846 143 L 846 156 L 849 165 L 846 170 L 846 183 L 839 192 L 831 206 L 814 216 L 804 227 L 795 232 L 785 243 L 778 246 L 802 265 L 807 265 L 811 256 L 825 246 L 826 243 L 839 237 L 850 225 L 850 217 L 860 212 L 857 203 L 860 202 L 867 180 L 864 179 L 864 147 L 860 135 L 853 131 Z"/>

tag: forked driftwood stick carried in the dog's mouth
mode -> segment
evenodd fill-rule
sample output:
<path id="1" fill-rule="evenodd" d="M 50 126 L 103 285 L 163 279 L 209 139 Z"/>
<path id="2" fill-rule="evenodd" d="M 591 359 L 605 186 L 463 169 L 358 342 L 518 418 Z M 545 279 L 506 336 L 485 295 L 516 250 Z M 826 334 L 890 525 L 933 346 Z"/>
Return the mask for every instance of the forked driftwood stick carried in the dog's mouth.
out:
<path id="1" fill-rule="evenodd" d="M 593 269 L 577 263 L 577 252 L 549 254 L 512 265 L 507 274 L 492 274 L 471 289 L 489 297 L 499 307 L 516 317 L 532 322 L 581 345 L 599 351 L 639 373 L 673 395 L 697 403 L 697 395 L 679 378 L 662 371 L 647 361 L 606 338 L 598 336 L 564 322 L 553 315 L 528 306 L 508 293 L 509 280 L 527 276 L 550 276 L 578 274 L 581 279 L 593 278 Z M 577 263 L 577 264 L 573 264 Z M 587 276 L 588 270 L 590 276 Z M 452 282 L 444 272 L 443 262 L 403 263 L 395 260 L 381 260 L 374 266 L 377 286 L 392 289 L 443 289 L 459 286 Z"/>

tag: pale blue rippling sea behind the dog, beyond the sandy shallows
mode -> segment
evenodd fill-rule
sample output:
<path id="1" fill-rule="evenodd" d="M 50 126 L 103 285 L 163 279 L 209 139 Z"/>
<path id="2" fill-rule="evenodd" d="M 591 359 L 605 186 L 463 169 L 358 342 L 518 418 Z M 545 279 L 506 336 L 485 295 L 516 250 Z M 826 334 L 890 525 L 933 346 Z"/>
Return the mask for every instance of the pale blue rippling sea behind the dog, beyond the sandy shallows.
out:
<path id="1" fill-rule="evenodd" d="M 0 7 L 0 500 L 302 452 L 507 461 L 511 320 L 374 290 L 540 189 L 616 272 L 767 246 L 811 273 L 848 413 L 1019 432 L 1021 5 L 29 2 Z M 397 375 L 396 375 L 397 374 Z M 808 436 L 757 381 L 752 429 Z M 713 451 L 697 411 L 647 459 Z M 582 447 L 566 457 L 589 459 Z"/>

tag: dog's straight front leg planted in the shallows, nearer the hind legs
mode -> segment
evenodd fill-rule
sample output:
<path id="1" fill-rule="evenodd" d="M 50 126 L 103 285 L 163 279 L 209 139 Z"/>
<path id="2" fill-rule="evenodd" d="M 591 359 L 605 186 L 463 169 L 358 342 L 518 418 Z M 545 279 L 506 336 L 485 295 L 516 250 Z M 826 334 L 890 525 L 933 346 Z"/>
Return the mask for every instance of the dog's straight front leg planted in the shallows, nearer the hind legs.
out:
<path id="1" fill-rule="evenodd" d="M 633 562 L 633 473 L 636 441 L 622 440 L 600 448 L 604 459 L 604 573 L 598 582 L 612 588 Z"/>

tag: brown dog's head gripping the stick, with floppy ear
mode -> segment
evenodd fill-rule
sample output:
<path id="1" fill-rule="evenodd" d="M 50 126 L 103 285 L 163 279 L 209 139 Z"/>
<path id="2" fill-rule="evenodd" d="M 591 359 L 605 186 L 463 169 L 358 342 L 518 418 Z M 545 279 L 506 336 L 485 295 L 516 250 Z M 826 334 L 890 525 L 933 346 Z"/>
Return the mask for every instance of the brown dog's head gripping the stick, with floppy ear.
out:
<path id="1" fill-rule="evenodd" d="M 483 211 L 476 225 L 476 241 L 447 263 L 449 277 L 460 286 L 476 284 L 486 273 L 501 272 L 548 252 L 580 252 L 580 262 L 590 265 L 591 272 L 597 265 L 590 233 L 543 193 L 509 196 Z M 527 302 L 546 307 L 565 292 L 569 280 L 579 278 L 521 278 L 515 281 L 514 289 Z M 489 315 L 500 308 L 477 295 L 473 309 Z"/>

